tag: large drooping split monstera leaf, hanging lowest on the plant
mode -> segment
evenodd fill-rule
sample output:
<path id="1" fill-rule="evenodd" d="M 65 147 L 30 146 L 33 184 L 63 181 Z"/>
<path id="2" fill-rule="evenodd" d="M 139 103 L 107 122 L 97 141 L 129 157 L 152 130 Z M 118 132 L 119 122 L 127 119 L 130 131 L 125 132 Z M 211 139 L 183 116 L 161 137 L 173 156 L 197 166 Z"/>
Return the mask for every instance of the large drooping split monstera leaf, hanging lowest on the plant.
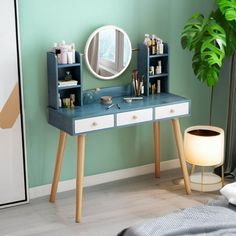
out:
<path id="1" fill-rule="evenodd" d="M 194 51 L 192 67 L 197 79 L 214 86 L 225 57 L 224 29 L 213 18 L 195 14 L 184 27 L 181 45 L 184 49 Z"/>

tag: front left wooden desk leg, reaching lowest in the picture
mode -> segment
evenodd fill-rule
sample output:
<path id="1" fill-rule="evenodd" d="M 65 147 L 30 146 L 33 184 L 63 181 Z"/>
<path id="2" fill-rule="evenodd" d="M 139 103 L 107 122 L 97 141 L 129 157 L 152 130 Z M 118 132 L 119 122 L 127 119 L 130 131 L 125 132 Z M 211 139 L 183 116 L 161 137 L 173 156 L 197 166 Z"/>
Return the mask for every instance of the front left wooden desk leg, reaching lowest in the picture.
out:
<path id="1" fill-rule="evenodd" d="M 76 212 L 75 222 L 79 223 L 82 212 L 83 179 L 84 179 L 84 153 L 85 135 L 79 135 L 77 140 L 77 176 L 76 176 Z"/>

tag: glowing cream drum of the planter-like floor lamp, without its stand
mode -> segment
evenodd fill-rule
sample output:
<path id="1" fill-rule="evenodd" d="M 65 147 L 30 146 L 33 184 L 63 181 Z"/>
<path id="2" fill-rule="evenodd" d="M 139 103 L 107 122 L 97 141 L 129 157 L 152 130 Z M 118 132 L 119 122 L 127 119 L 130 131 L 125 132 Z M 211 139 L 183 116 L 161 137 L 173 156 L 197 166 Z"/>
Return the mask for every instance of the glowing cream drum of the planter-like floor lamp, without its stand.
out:
<path id="1" fill-rule="evenodd" d="M 214 126 L 192 126 L 184 133 L 186 161 L 197 166 L 216 166 L 224 161 L 224 131 Z"/>

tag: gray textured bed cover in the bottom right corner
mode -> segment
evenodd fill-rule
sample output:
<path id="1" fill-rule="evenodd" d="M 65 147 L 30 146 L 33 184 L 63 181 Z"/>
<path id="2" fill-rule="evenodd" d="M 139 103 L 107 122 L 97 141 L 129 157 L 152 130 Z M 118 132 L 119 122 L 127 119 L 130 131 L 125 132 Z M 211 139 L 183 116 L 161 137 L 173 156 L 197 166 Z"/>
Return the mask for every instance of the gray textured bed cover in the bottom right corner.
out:
<path id="1" fill-rule="evenodd" d="M 236 235 L 236 207 L 226 200 L 211 202 L 132 226 L 122 235 Z"/>

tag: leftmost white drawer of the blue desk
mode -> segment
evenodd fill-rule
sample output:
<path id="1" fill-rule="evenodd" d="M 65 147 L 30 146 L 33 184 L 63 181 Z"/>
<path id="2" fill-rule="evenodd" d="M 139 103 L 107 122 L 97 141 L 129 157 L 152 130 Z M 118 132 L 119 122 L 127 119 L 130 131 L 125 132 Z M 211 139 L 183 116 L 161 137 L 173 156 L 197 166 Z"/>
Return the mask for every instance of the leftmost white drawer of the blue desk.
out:
<path id="1" fill-rule="evenodd" d="M 114 115 L 75 120 L 75 133 L 85 133 L 111 127 L 114 127 Z"/>

